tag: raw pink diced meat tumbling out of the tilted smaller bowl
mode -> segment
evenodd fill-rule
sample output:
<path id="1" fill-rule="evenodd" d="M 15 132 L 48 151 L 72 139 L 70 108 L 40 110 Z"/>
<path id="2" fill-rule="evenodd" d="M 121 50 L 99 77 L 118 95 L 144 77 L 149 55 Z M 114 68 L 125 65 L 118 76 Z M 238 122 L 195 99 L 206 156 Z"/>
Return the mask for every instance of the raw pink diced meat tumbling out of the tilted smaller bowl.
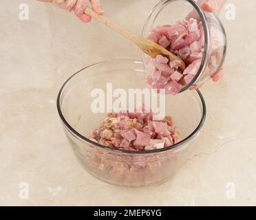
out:
<path id="1" fill-rule="evenodd" d="M 149 39 L 182 58 L 186 64 L 180 72 L 177 63 L 162 55 L 147 56 L 151 72 L 147 83 L 153 89 L 165 89 L 166 94 L 178 94 L 182 86 L 188 85 L 197 74 L 204 52 L 204 30 L 196 19 L 179 21 L 175 25 L 162 25 L 153 29 Z"/>

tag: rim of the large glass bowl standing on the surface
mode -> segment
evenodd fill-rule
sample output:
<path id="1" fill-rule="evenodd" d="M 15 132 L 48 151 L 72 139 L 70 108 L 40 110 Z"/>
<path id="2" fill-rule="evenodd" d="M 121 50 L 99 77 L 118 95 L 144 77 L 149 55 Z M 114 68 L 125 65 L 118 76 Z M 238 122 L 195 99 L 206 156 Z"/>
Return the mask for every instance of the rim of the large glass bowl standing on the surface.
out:
<path id="1" fill-rule="evenodd" d="M 202 96 L 202 94 L 200 93 L 199 89 L 195 89 L 195 91 L 198 93 L 198 96 L 200 98 L 201 104 L 202 104 L 202 117 L 200 119 L 200 122 L 198 124 L 198 126 L 195 128 L 195 130 L 188 135 L 186 138 L 184 138 L 182 141 L 178 142 L 177 144 L 173 144 L 171 146 L 167 146 L 164 148 L 160 148 L 160 149 L 156 149 L 156 150 L 150 150 L 150 151 L 128 151 L 128 150 L 122 150 L 122 149 L 116 149 L 116 148 L 111 148 L 109 146 L 105 146 L 103 144 L 98 144 L 92 140 L 89 140 L 89 138 L 85 137 L 84 135 L 81 135 L 81 133 L 78 133 L 78 131 L 76 131 L 76 129 L 74 129 L 68 122 L 67 120 L 65 120 L 65 117 L 61 111 L 61 95 L 63 94 L 63 89 L 65 89 L 65 86 L 67 85 L 67 83 L 70 82 L 70 80 L 72 80 L 72 78 L 74 78 L 77 74 L 81 73 L 83 70 L 88 69 L 89 67 L 94 67 L 96 65 L 104 65 L 106 63 L 116 63 L 116 62 L 132 62 L 132 63 L 141 63 L 142 66 L 143 65 L 143 61 L 137 60 L 137 59 L 114 59 L 114 60 L 109 60 L 109 61 L 102 61 L 102 62 L 98 62 L 98 63 L 94 63 L 92 65 L 88 65 L 87 67 L 84 67 L 83 69 L 80 69 L 78 72 L 76 72 L 75 74 L 73 74 L 72 76 L 70 76 L 70 78 L 68 78 L 65 83 L 61 86 L 61 89 L 58 91 L 58 97 L 56 100 L 56 106 L 57 106 L 57 110 L 58 110 L 58 115 L 61 118 L 61 121 L 63 122 L 63 124 L 65 125 L 65 127 L 75 136 L 75 137 L 79 137 L 81 138 L 81 140 L 87 142 L 88 144 L 93 144 L 94 146 L 98 146 L 100 148 L 103 148 L 107 151 L 112 151 L 112 152 L 116 152 L 116 153 L 127 153 L 127 154 L 134 154 L 134 155 L 142 155 L 142 154 L 150 154 L 150 153 L 160 153 L 160 152 L 164 152 L 164 151 L 169 151 L 173 148 L 178 148 L 179 146 L 183 146 L 184 144 L 186 144 L 187 142 L 189 142 L 190 140 L 193 139 L 193 137 L 195 137 L 198 132 L 202 129 L 202 126 L 204 124 L 204 121 L 206 119 L 206 104 L 204 102 L 204 98 Z M 188 91 L 189 92 L 189 91 Z"/>

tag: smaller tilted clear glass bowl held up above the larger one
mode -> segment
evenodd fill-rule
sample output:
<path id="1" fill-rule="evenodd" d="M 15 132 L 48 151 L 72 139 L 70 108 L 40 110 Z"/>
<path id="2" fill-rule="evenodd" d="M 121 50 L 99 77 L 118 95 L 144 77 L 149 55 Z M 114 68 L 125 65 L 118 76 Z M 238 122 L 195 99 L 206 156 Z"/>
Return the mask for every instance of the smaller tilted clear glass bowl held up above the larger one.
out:
<path id="1" fill-rule="evenodd" d="M 193 18 L 202 21 L 204 28 L 204 52 L 202 63 L 191 83 L 181 87 L 180 92 L 193 86 L 202 86 L 220 71 L 226 56 L 226 32 L 220 19 L 215 14 L 204 12 L 193 0 L 162 0 L 151 10 L 145 22 L 142 37 L 147 38 L 153 28 L 161 25 L 173 25 L 186 19 L 193 12 Z M 217 54 L 217 59 L 212 59 Z M 147 58 L 142 54 L 147 67 Z"/>

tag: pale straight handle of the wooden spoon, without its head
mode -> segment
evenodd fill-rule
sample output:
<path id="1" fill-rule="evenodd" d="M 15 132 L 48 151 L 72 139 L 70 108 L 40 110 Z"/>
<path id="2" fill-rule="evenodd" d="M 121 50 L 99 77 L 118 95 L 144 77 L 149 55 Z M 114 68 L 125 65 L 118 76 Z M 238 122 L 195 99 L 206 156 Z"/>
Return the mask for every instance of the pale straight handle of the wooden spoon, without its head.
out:
<path id="1" fill-rule="evenodd" d="M 138 38 L 135 34 L 132 34 L 128 30 L 125 30 L 124 28 L 120 27 L 120 25 L 110 21 L 107 17 L 104 15 L 97 14 L 92 10 L 92 8 L 87 7 L 85 10 L 85 14 L 88 14 L 90 17 L 100 21 L 101 23 L 107 25 L 112 30 L 118 32 L 119 34 L 122 34 L 122 36 L 125 36 L 127 39 L 130 39 L 131 41 L 135 41 L 135 39 Z"/>

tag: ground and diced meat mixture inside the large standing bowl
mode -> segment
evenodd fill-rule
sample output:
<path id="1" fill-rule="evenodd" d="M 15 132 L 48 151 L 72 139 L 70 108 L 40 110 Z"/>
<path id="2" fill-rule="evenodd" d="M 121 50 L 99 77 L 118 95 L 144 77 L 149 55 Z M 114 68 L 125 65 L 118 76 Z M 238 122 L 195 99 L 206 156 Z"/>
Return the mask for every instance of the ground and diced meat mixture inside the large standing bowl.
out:
<path id="1" fill-rule="evenodd" d="M 135 112 L 108 113 L 89 139 L 113 148 L 148 151 L 176 144 L 180 135 L 171 116 L 153 120 L 152 112 L 143 105 Z"/>

